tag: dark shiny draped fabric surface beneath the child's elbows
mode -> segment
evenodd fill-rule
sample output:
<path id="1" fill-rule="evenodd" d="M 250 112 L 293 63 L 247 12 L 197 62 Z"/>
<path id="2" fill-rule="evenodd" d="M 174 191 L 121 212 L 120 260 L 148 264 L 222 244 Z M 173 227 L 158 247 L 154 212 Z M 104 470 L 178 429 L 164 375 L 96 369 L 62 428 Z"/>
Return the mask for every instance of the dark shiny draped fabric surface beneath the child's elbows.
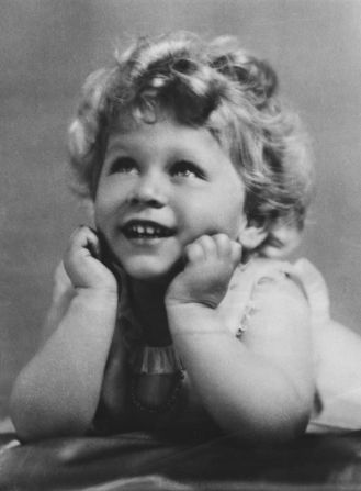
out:
<path id="1" fill-rule="evenodd" d="M 0 450 L 1 491 L 354 490 L 361 488 L 361 434 L 306 435 L 251 449 L 229 438 L 127 433 L 56 438 Z"/>

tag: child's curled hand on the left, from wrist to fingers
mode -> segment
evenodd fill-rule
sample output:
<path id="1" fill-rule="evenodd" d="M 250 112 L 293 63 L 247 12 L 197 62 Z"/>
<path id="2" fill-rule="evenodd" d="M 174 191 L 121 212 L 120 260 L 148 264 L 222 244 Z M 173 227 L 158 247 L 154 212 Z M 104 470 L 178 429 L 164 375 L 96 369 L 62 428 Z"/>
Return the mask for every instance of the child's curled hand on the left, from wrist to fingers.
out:
<path id="1" fill-rule="evenodd" d="M 74 288 L 117 291 L 114 275 L 99 259 L 99 237 L 88 226 L 78 227 L 71 235 L 64 267 Z"/>

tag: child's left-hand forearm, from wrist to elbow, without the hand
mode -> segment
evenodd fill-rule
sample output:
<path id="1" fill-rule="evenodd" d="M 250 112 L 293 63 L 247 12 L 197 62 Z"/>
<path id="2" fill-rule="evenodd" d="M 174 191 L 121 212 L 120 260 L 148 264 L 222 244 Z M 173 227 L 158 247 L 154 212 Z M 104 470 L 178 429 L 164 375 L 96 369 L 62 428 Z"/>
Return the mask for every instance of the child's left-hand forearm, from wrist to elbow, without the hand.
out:
<path id="1" fill-rule="evenodd" d="M 11 397 L 20 438 L 81 434 L 99 402 L 116 295 L 80 290 L 57 330 L 22 370 Z"/>

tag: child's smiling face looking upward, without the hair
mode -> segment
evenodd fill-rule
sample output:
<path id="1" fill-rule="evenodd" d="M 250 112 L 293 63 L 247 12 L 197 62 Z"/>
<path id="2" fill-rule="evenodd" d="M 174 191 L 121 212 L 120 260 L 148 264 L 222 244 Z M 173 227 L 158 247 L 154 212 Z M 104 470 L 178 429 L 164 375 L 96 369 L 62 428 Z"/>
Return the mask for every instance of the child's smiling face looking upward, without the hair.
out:
<path id="1" fill-rule="evenodd" d="M 159 281 L 199 236 L 236 239 L 244 202 L 244 182 L 214 137 L 167 118 L 110 136 L 94 215 L 125 271 Z"/>

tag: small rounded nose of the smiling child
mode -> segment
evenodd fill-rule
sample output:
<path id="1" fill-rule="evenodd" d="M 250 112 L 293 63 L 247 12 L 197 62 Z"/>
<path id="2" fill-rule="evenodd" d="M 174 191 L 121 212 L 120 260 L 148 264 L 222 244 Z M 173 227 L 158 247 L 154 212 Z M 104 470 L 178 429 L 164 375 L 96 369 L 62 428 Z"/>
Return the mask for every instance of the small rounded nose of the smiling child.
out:
<path id="1" fill-rule="evenodd" d="M 139 177 L 129 194 L 132 203 L 146 203 L 151 207 L 163 207 L 167 201 L 167 185 L 163 179 L 154 174 Z"/>

